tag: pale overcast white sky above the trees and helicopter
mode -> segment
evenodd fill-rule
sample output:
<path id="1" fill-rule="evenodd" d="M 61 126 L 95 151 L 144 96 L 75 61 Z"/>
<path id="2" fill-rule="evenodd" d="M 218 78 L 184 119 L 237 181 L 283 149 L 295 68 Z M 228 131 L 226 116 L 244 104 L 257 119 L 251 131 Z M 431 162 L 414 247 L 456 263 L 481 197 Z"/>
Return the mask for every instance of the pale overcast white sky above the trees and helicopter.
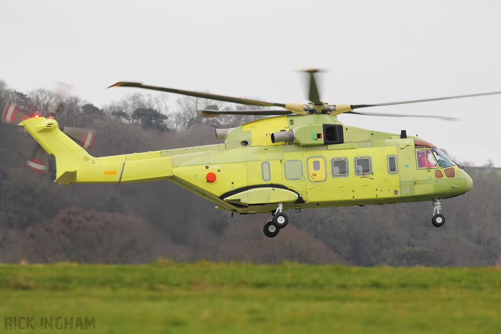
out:
<path id="1" fill-rule="evenodd" d="M 501 91 L 501 2 L 3 1 L 0 79 L 28 92 L 71 83 L 102 106 L 118 81 L 271 102 L 306 102 L 302 68 L 329 103 L 371 104 Z M 177 95 L 171 94 L 174 102 Z M 501 95 L 367 108 L 459 122 L 343 115 L 420 137 L 458 161 L 501 166 Z M 148 150 L 147 147 L 144 148 Z"/>

